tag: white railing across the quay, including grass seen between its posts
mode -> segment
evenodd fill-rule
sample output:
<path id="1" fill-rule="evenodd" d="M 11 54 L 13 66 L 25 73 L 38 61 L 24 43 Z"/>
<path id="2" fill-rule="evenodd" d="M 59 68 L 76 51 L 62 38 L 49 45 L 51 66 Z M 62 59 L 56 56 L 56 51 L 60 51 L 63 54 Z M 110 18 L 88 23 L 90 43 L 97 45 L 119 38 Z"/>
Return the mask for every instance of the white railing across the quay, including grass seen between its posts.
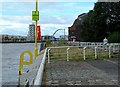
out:
<path id="1" fill-rule="evenodd" d="M 48 48 L 48 63 L 51 60 L 87 60 L 111 58 L 120 53 L 119 45 L 60 46 Z"/>

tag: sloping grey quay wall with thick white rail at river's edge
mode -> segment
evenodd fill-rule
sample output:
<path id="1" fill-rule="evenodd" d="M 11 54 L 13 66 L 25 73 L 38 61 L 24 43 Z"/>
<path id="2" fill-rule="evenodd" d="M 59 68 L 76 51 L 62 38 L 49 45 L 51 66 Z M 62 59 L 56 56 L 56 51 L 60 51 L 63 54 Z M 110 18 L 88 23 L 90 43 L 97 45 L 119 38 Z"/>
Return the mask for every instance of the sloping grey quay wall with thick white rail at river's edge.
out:
<path id="1" fill-rule="evenodd" d="M 43 50 L 42 52 L 46 53 L 46 50 Z M 23 85 L 30 86 L 41 84 L 44 62 L 46 58 L 45 53 L 34 59 L 33 64 L 25 66 L 23 74 L 19 76 L 19 86 L 23 87 Z"/>

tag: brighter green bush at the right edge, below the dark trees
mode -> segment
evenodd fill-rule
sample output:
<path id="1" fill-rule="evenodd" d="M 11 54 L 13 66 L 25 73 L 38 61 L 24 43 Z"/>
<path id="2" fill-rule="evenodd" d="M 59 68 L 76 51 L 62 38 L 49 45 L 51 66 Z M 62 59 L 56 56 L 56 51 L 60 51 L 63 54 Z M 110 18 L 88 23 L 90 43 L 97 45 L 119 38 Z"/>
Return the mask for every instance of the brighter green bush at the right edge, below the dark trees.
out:
<path id="1" fill-rule="evenodd" d="M 110 34 L 108 37 L 108 41 L 120 43 L 120 32 L 114 32 L 114 33 Z"/>

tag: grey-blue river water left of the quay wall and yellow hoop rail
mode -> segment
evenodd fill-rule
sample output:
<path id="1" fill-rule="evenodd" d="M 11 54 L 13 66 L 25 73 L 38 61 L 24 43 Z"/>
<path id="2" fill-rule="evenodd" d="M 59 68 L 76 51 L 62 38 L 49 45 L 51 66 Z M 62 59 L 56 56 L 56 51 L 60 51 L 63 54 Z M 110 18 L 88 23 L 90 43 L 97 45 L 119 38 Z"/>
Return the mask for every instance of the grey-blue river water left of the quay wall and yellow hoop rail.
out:
<path id="1" fill-rule="evenodd" d="M 30 50 L 34 53 L 34 43 L 9 43 L 2 46 L 2 85 L 17 85 L 21 52 Z M 40 43 L 38 44 L 38 49 Z M 0 78 L 1 79 L 1 78 Z"/>

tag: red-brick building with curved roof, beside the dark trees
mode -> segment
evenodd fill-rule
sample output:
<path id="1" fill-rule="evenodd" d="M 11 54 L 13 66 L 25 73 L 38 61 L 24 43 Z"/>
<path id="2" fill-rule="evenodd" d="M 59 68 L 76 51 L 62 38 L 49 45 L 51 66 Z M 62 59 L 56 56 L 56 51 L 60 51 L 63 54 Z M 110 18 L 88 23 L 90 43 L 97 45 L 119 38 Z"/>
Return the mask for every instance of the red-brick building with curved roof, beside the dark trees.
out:
<path id="1" fill-rule="evenodd" d="M 68 27 L 69 41 L 80 41 L 80 29 L 77 27 L 83 23 L 86 15 L 86 13 L 79 15 L 78 18 L 74 21 L 73 25 L 71 27 Z"/>

